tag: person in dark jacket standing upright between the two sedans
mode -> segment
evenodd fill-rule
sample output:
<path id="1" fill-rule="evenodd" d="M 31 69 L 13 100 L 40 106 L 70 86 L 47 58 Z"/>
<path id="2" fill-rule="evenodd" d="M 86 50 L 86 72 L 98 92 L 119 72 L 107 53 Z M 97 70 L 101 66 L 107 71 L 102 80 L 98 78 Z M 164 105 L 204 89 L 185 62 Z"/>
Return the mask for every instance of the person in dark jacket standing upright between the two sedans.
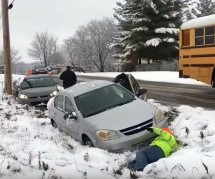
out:
<path id="1" fill-rule="evenodd" d="M 61 73 L 60 79 L 63 80 L 64 89 L 73 86 L 77 82 L 75 73 L 71 70 L 70 66 L 66 67 L 66 70 Z"/>

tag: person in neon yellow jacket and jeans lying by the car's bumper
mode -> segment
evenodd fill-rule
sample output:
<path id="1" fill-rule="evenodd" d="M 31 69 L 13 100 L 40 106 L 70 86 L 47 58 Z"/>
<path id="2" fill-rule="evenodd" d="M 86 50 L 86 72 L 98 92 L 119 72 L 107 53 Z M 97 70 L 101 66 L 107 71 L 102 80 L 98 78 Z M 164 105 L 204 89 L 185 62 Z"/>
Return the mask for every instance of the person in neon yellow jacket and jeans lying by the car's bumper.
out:
<path id="1" fill-rule="evenodd" d="M 168 157 L 177 148 L 176 139 L 169 128 L 148 128 L 149 132 L 158 135 L 149 146 L 137 151 L 135 160 L 128 163 L 128 168 L 143 171 L 146 165 Z"/>

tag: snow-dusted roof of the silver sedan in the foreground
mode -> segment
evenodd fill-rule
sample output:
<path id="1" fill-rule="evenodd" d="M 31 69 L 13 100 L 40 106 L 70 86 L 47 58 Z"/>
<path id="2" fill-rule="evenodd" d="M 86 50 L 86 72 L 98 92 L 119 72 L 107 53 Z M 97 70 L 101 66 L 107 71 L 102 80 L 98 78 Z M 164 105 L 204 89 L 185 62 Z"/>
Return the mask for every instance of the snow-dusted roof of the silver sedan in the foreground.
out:
<path id="1" fill-rule="evenodd" d="M 105 81 L 105 80 L 93 80 L 93 81 L 89 81 L 89 82 L 81 82 L 72 87 L 65 89 L 63 91 L 63 93 L 66 93 L 66 94 L 72 93 L 72 96 L 75 97 L 75 96 L 81 95 L 83 93 L 87 93 L 89 91 L 92 91 L 92 90 L 95 90 L 98 88 L 102 88 L 104 86 L 108 86 L 111 84 L 115 84 L 115 83 L 113 83 L 111 81 Z"/>

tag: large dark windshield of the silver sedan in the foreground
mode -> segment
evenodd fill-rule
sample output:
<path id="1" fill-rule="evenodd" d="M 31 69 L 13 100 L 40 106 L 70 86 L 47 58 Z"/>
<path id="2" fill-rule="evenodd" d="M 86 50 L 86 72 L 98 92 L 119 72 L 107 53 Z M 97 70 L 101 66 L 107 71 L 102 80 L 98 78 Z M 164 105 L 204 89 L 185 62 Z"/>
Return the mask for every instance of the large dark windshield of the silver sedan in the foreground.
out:
<path id="1" fill-rule="evenodd" d="M 135 96 L 117 84 L 105 86 L 75 97 L 83 117 L 89 117 L 111 108 L 130 103 Z"/>

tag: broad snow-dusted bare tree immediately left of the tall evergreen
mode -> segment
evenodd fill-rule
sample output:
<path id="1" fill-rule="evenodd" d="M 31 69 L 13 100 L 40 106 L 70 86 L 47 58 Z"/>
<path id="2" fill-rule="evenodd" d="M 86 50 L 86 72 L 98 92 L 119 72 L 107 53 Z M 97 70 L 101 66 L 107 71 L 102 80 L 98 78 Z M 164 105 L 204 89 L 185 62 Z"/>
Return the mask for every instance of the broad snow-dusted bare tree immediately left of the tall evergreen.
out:
<path id="1" fill-rule="evenodd" d="M 109 18 L 93 20 L 81 26 L 72 38 L 64 41 L 67 57 L 71 62 L 87 66 L 88 70 L 96 67 L 105 71 L 107 63 L 112 59 L 113 42 L 116 33 L 114 21 Z"/>

